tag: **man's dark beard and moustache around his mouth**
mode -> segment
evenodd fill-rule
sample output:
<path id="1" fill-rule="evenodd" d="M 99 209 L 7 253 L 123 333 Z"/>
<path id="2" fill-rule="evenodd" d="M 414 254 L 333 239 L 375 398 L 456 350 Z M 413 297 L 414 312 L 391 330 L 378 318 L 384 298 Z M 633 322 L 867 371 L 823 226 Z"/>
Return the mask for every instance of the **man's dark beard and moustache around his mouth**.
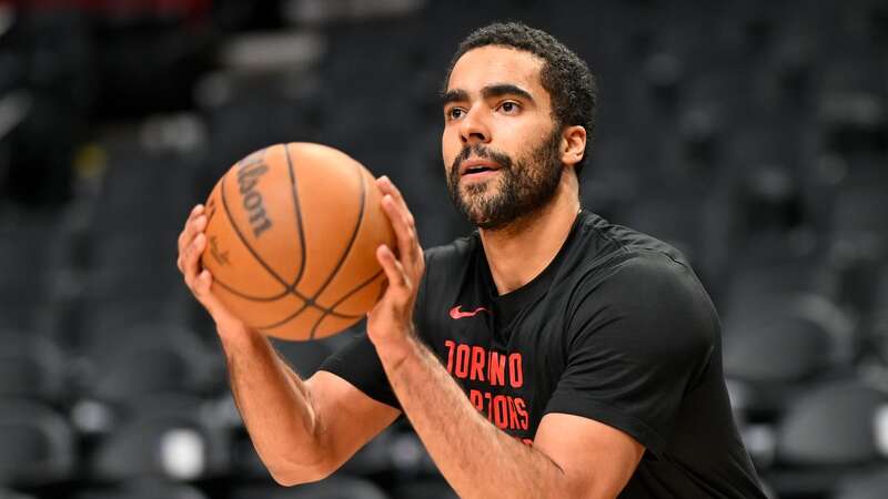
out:
<path id="1" fill-rule="evenodd" d="M 561 133 L 556 130 L 543 144 L 513 161 L 507 154 L 483 144 L 466 144 L 451 165 L 447 190 L 451 201 L 465 218 L 480 228 L 495 231 L 545 206 L 558 190 L 564 173 Z M 495 161 L 500 179 L 460 186 L 460 164 L 468 157 Z M 498 192 L 496 186 L 498 185 Z"/>

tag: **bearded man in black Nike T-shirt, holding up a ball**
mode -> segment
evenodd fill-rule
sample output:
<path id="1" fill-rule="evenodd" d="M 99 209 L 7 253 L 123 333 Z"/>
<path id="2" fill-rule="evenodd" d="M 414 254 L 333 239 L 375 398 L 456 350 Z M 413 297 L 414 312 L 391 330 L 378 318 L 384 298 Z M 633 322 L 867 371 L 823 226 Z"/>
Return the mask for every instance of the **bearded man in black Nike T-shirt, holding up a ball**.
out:
<path id="1" fill-rule="evenodd" d="M 478 231 L 423 253 L 380 179 L 389 287 L 311 378 L 213 296 L 201 206 L 180 237 L 273 477 L 327 476 L 403 411 L 465 498 L 764 497 L 706 292 L 670 246 L 581 210 L 588 68 L 542 31 L 492 24 L 461 44 L 443 96 L 447 184 Z"/>

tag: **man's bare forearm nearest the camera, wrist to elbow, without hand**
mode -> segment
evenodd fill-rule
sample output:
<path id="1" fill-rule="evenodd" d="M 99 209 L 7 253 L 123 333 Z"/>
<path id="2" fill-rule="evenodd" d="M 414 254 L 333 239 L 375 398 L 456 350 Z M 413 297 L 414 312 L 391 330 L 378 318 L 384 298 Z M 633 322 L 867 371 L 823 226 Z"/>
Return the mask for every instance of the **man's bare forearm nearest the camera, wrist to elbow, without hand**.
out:
<path id="1" fill-rule="evenodd" d="M 555 462 L 491 425 L 413 335 L 377 352 L 404 413 L 460 497 L 573 496 Z"/>

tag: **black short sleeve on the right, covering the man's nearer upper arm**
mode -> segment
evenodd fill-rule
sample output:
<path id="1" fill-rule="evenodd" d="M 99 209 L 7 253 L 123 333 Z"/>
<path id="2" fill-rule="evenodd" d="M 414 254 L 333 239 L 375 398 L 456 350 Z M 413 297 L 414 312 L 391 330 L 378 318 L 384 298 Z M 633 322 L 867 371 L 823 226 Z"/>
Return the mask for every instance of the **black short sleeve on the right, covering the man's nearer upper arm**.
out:
<path id="1" fill-rule="evenodd" d="M 688 267 L 655 252 L 577 292 L 565 369 L 546 413 L 595 419 L 662 454 L 717 342 L 712 302 Z"/>

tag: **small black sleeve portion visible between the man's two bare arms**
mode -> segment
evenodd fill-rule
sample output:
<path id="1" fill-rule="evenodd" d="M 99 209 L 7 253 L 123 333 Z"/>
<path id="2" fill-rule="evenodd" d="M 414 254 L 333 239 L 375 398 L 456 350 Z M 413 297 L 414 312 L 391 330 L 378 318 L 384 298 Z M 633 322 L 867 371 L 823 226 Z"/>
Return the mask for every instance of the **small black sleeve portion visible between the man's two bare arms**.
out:
<path id="1" fill-rule="evenodd" d="M 354 385 L 367 397 L 385 405 L 401 409 L 382 361 L 376 355 L 366 333 L 362 333 L 331 355 L 320 367 L 321 370 L 332 373 Z"/>

